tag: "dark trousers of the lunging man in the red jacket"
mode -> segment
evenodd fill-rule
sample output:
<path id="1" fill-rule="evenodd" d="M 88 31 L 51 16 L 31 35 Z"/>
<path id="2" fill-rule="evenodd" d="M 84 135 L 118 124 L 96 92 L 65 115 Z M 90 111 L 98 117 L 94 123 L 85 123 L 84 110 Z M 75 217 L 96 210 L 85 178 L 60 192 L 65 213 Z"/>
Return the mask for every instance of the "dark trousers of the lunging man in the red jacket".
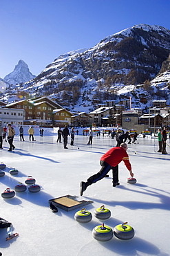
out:
<path id="1" fill-rule="evenodd" d="M 118 165 L 115 167 L 111 167 L 108 163 L 105 161 L 100 161 L 101 169 L 97 174 L 94 174 L 93 176 L 89 177 L 87 179 L 87 185 L 91 185 L 92 183 L 96 183 L 97 181 L 100 181 L 105 177 L 105 175 L 109 172 L 109 170 L 112 169 L 113 173 L 113 183 L 118 182 Z"/>

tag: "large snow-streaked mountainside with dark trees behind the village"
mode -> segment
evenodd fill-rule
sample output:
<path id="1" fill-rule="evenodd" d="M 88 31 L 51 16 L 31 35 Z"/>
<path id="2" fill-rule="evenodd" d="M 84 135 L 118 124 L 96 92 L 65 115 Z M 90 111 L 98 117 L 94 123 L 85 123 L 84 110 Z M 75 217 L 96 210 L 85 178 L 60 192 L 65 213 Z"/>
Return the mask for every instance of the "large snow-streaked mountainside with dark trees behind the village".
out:
<path id="1" fill-rule="evenodd" d="M 92 48 L 57 57 L 33 80 L 11 86 L 3 99 L 21 90 L 32 97 L 52 95 L 72 110 L 88 111 L 94 98 L 119 102 L 131 96 L 132 107 L 144 107 L 140 98 L 147 98 L 148 105 L 151 99 L 169 100 L 169 80 L 164 86 L 153 80 L 167 72 L 162 63 L 169 53 L 170 30 L 136 25 L 105 37 Z"/>

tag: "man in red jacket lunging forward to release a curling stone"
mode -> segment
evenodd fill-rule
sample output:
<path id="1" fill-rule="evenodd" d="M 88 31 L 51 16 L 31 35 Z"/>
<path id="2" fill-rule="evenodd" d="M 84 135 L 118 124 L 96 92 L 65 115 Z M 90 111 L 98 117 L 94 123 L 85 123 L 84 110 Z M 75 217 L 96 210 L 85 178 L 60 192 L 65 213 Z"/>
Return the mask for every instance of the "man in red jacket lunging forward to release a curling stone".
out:
<path id="1" fill-rule="evenodd" d="M 100 165 L 101 169 L 97 174 L 89 177 L 87 182 L 81 181 L 81 189 L 80 194 L 83 195 L 86 188 L 97 181 L 100 181 L 105 177 L 105 175 L 112 169 L 113 172 L 113 187 L 116 185 L 120 185 L 118 183 L 118 164 L 123 161 L 129 170 L 130 176 L 134 177 L 133 172 L 131 171 L 131 163 L 129 162 L 129 156 L 127 154 L 127 144 L 122 143 L 120 147 L 112 147 L 109 149 L 101 158 L 100 158 Z"/>

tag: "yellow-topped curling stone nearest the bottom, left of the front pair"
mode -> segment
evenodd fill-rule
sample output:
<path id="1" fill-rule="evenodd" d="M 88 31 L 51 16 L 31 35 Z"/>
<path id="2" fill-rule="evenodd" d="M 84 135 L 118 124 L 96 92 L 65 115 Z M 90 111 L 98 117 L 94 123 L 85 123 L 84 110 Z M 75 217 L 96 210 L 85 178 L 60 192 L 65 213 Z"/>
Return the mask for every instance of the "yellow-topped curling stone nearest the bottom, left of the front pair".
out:
<path id="1" fill-rule="evenodd" d="M 113 230 L 104 223 L 92 230 L 93 237 L 98 241 L 109 241 L 114 236 Z"/>

